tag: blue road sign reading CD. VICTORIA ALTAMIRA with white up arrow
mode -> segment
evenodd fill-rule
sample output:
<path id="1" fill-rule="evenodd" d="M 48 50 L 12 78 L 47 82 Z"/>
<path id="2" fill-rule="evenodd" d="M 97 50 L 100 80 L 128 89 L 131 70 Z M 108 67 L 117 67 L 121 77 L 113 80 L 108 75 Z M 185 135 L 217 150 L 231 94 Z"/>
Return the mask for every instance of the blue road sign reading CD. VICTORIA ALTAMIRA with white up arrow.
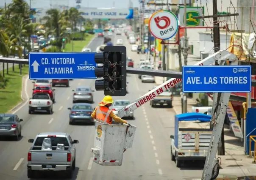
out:
<path id="1" fill-rule="evenodd" d="M 95 52 L 29 53 L 29 79 L 96 79 Z"/>

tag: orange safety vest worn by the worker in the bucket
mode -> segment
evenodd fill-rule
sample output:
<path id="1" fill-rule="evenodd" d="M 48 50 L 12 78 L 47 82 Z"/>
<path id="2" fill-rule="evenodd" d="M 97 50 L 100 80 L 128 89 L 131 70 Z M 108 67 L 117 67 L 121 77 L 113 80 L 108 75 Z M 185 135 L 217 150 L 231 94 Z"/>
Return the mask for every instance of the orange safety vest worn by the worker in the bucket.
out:
<path id="1" fill-rule="evenodd" d="M 111 111 L 112 110 L 110 110 L 106 106 L 97 106 L 96 120 L 99 120 L 101 123 L 112 124 L 112 117 L 109 116 Z"/>

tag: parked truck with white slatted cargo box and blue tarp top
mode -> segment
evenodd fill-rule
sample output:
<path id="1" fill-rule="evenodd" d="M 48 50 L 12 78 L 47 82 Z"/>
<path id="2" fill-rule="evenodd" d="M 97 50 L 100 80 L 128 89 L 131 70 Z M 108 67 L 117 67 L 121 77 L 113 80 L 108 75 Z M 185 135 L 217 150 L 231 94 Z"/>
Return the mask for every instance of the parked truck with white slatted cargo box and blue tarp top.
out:
<path id="1" fill-rule="evenodd" d="M 201 128 L 198 122 L 209 124 L 210 115 L 202 113 L 184 113 L 175 115 L 174 136 L 171 135 L 171 159 L 181 167 L 184 161 L 206 160 L 212 129 Z M 194 121 L 194 122 L 193 122 Z"/>

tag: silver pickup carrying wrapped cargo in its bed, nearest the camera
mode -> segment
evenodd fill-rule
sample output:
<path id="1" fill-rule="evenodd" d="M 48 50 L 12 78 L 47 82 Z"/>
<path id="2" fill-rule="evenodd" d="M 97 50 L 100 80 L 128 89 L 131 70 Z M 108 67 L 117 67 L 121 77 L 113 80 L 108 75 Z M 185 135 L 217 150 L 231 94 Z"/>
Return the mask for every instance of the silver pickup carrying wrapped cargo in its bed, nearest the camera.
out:
<path id="1" fill-rule="evenodd" d="M 64 172 L 67 178 L 72 178 L 75 169 L 75 145 L 78 140 L 72 140 L 67 133 L 39 133 L 28 151 L 28 178 L 34 178 L 36 172 Z"/>

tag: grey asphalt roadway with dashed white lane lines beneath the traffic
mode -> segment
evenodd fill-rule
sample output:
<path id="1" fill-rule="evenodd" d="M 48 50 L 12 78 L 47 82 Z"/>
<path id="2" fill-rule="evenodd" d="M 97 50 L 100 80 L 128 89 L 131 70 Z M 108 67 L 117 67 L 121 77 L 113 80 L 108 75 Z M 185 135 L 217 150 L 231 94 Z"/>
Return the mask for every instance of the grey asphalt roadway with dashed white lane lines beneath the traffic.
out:
<path id="1" fill-rule="evenodd" d="M 124 40 L 127 55 L 135 64 L 144 55 L 131 52 L 131 46 L 123 36 L 114 37 Z M 103 38 L 95 38 L 89 44 L 94 51 L 102 44 Z M 136 67 L 136 66 L 135 66 Z M 128 99 L 134 101 L 150 90 L 154 83 L 142 83 L 137 75 L 128 75 L 128 94 L 125 97 L 114 99 Z M 32 94 L 32 81 L 28 80 L 27 90 L 29 97 Z M 135 120 L 128 120 L 137 126 L 133 147 L 126 150 L 122 166 L 100 166 L 92 162 L 95 127 L 93 125 L 69 125 L 68 107 L 72 106 L 72 90 L 78 85 L 94 87 L 94 80 L 79 79 L 70 81 L 70 87 L 55 87 L 56 103 L 52 115 L 29 115 L 28 104 L 17 111 L 22 118 L 22 139 L 18 142 L 11 139 L 0 140 L 0 180 L 28 180 L 27 153 L 33 139 L 40 132 L 66 132 L 72 139 L 79 140 L 76 145 L 76 169 L 73 180 L 192 180 L 201 176 L 197 169 L 178 169 L 170 159 L 170 134 L 174 131 L 174 115 L 171 108 L 151 108 L 149 104 L 136 109 Z M 104 97 L 103 92 L 94 92 L 92 105 L 96 107 Z M 194 166 L 194 165 L 193 165 Z M 48 175 L 39 179 L 55 179 Z"/>

